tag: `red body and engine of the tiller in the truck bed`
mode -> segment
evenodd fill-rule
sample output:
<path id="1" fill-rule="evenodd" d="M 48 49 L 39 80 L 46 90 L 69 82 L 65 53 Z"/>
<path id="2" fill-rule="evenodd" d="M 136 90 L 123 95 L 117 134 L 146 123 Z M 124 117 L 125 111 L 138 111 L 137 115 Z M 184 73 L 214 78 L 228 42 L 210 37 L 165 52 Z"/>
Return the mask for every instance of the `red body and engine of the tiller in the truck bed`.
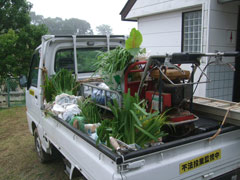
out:
<path id="1" fill-rule="evenodd" d="M 131 64 L 126 69 L 124 74 L 125 93 L 128 92 L 128 89 L 130 89 L 132 96 L 138 92 L 141 85 L 141 76 L 144 71 L 146 72 L 146 65 L 147 61 L 139 61 Z M 180 70 L 170 68 L 165 69 L 165 76 L 162 77 L 159 69 L 154 69 L 154 65 L 147 68 L 149 77 L 145 78 L 139 96 L 141 99 L 147 100 L 149 112 L 158 110 L 161 113 L 170 109 L 168 116 L 173 123 L 195 120 L 197 117 L 186 108 L 183 108 L 186 102 L 189 102 L 192 98 L 192 85 L 183 83 L 175 86 L 168 82 L 169 79 L 175 83 L 189 79 L 190 72 L 181 72 Z M 161 83 L 161 86 L 159 83 Z M 159 92 L 161 93 L 161 98 L 159 98 Z"/>

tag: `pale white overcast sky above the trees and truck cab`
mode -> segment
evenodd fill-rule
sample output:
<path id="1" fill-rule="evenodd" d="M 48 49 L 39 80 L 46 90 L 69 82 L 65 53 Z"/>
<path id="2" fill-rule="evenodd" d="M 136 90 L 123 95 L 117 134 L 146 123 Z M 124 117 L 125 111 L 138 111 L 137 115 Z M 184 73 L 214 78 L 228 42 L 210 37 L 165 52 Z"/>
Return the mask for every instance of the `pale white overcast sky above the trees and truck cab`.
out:
<path id="1" fill-rule="evenodd" d="M 44 18 L 78 18 L 90 23 L 94 34 L 96 26 L 107 24 L 113 34 L 128 35 L 137 23 L 121 21 L 120 12 L 127 0 L 28 0 L 33 4 L 31 11 Z"/>

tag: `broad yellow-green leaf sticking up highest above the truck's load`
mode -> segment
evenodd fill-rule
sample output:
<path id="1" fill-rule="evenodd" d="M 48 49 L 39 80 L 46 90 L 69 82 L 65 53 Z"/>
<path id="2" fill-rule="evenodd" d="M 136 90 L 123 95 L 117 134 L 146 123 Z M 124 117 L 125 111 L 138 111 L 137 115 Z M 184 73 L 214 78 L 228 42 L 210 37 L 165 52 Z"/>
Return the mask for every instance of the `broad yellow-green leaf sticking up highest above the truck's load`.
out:
<path id="1" fill-rule="evenodd" d="M 129 38 L 126 40 L 126 49 L 140 48 L 142 44 L 142 34 L 140 31 L 133 28 L 131 30 Z"/>

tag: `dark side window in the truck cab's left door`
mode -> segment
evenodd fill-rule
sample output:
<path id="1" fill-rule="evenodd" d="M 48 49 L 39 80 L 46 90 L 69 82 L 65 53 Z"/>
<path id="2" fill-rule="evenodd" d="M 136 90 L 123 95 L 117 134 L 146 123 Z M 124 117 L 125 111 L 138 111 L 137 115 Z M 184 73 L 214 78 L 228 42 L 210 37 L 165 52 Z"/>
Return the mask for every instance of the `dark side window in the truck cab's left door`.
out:
<path id="1" fill-rule="evenodd" d="M 31 62 L 29 77 L 28 77 L 28 86 L 27 86 L 28 89 L 30 88 L 30 86 L 37 87 L 39 61 L 40 61 L 39 53 L 34 54 Z"/>

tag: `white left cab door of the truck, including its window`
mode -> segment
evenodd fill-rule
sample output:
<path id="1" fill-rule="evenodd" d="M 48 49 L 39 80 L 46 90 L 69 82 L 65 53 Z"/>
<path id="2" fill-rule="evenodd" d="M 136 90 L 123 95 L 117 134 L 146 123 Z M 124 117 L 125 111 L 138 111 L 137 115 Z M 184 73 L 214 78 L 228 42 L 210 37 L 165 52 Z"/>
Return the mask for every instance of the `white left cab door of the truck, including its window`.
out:
<path id="1" fill-rule="evenodd" d="M 38 126 L 41 120 L 41 110 L 40 110 L 40 84 L 39 82 L 39 52 L 33 55 L 31 67 L 28 75 L 28 83 L 26 90 L 26 106 L 27 106 L 27 117 L 30 121 L 34 121 L 36 126 Z M 29 124 L 31 125 L 31 124 Z M 30 126 L 31 127 L 31 126 Z"/>

